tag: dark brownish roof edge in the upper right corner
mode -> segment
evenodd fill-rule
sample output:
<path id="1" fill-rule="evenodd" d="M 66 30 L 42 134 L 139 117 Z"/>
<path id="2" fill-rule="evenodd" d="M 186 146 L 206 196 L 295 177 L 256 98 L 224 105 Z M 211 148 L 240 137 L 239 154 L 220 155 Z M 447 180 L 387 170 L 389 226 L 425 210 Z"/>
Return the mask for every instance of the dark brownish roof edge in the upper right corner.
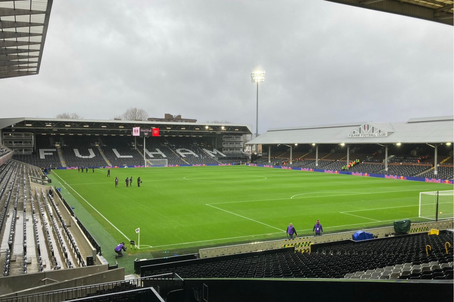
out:
<path id="1" fill-rule="evenodd" d="M 326 0 L 453 25 L 451 0 Z"/>

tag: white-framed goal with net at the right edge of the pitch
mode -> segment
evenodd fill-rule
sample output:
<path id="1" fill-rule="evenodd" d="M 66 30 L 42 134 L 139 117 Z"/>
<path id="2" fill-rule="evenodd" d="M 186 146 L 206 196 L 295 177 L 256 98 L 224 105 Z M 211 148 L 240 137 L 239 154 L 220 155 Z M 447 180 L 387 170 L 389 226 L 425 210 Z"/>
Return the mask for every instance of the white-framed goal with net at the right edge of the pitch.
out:
<path id="1" fill-rule="evenodd" d="M 419 217 L 432 220 L 454 217 L 453 190 L 419 193 Z"/>

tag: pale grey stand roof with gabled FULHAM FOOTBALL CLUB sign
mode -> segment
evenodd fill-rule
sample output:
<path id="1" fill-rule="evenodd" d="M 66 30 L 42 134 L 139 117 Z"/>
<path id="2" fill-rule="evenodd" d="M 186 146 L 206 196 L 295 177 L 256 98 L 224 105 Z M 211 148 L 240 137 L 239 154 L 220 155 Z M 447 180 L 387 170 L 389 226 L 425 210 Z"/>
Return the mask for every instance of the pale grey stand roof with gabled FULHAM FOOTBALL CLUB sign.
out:
<path id="1" fill-rule="evenodd" d="M 454 116 L 407 122 L 356 122 L 269 129 L 247 144 L 446 143 L 454 140 Z"/>

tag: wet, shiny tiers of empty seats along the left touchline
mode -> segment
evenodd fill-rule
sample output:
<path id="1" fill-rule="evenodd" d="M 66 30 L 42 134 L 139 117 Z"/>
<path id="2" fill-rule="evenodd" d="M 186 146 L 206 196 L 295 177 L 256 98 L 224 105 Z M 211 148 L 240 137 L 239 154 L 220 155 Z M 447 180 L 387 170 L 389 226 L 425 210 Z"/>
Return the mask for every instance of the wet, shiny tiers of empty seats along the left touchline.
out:
<path id="1" fill-rule="evenodd" d="M 53 197 L 36 188 L 33 195 L 29 176 L 39 181 L 42 173 L 18 161 L 0 167 L 3 276 L 85 266 L 86 255 L 77 247 Z"/>

